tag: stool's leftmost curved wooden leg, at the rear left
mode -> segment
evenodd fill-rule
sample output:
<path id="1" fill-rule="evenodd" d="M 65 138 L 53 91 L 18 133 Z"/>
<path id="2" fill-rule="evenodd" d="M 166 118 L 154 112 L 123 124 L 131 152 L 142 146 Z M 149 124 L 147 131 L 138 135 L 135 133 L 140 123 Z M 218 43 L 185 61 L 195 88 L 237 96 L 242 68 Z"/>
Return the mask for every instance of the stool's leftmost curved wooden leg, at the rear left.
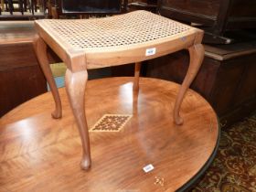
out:
<path id="1" fill-rule="evenodd" d="M 58 119 L 62 116 L 62 107 L 61 107 L 61 101 L 59 98 L 59 91 L 56 86 L 55 80 L 53 78 L 51 69 L 49 68 L 47 46 L 41 37 L 37 37 L 33 45 L 37 55 L 37 60 L 48 81 L 48 85 L 50 87 L 53 99 L 55 101 L 55 110 L 54 112 L 51 113 L 51 115 L 53 118 Z"/>

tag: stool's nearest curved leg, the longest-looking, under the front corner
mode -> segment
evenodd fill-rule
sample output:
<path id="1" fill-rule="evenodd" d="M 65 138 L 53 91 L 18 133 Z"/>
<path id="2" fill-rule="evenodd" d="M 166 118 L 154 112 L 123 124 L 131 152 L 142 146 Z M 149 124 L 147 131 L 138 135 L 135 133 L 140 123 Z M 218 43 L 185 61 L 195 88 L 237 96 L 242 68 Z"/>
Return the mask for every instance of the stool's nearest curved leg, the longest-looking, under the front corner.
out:
<path id="1" fill-rule="evenodd" d="M 77 122 L 80 139 L 83 149 L 80 166 L 82 169 L 89 169 L 91 166 L 91 151 L 88 125 L 84 111 L 84 95 L 86 82 L 88 80 L 87 70 L 80 70 L 72 72 L 69 69 L 66 71 L 65 83 L 66 91 L 69 96 L 69 103 L 71 105 L 75 120 Z"/>

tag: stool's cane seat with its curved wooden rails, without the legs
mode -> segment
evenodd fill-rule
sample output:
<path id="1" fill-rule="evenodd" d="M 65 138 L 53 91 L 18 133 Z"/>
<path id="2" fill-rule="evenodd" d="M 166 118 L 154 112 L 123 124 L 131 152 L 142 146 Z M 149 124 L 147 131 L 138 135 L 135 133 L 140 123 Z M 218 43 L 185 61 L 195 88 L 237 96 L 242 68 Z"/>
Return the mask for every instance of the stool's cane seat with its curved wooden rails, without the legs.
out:
<path id="1" fill-rule="evenodd" d="M 153 59 L 187 48 L 201 32 L 147 11 L 105 18 L 42 19 L 36 26 L 61 59 L 80 52 L 88 69 Z"/>

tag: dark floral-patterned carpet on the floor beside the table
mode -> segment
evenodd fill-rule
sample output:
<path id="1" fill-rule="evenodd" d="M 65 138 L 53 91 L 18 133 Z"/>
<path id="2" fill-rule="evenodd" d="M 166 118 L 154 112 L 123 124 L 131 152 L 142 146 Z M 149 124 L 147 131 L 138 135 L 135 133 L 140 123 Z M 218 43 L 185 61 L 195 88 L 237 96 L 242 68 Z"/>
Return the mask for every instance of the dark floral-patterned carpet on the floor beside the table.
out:
<path id="1" fill-rule="evenodd" d="M 192 192 L 256 192 L 256 113 L 221 131 L 219 151 Z"/>

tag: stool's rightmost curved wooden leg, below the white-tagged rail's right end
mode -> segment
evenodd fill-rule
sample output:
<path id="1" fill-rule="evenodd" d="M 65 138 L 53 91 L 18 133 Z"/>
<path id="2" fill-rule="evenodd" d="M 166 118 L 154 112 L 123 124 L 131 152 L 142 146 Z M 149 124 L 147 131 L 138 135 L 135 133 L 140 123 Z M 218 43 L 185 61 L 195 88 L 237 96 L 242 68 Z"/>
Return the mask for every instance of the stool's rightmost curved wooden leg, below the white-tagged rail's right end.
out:
<path id="1" fill-rule="evenodd" d="M 188 51 L 190 56 L 189 67 L 187 69 L 187 75 L 178 91 L 174 108 L 174 121 L 176 124 L 183 123 L 183 119 L 179 115 L 180 106 L 190 84 L 197 76 L 197 71 L 200 69 L 205 54 L 205 49 L 202 44 L 193 45 L 188 48 Z"/>

